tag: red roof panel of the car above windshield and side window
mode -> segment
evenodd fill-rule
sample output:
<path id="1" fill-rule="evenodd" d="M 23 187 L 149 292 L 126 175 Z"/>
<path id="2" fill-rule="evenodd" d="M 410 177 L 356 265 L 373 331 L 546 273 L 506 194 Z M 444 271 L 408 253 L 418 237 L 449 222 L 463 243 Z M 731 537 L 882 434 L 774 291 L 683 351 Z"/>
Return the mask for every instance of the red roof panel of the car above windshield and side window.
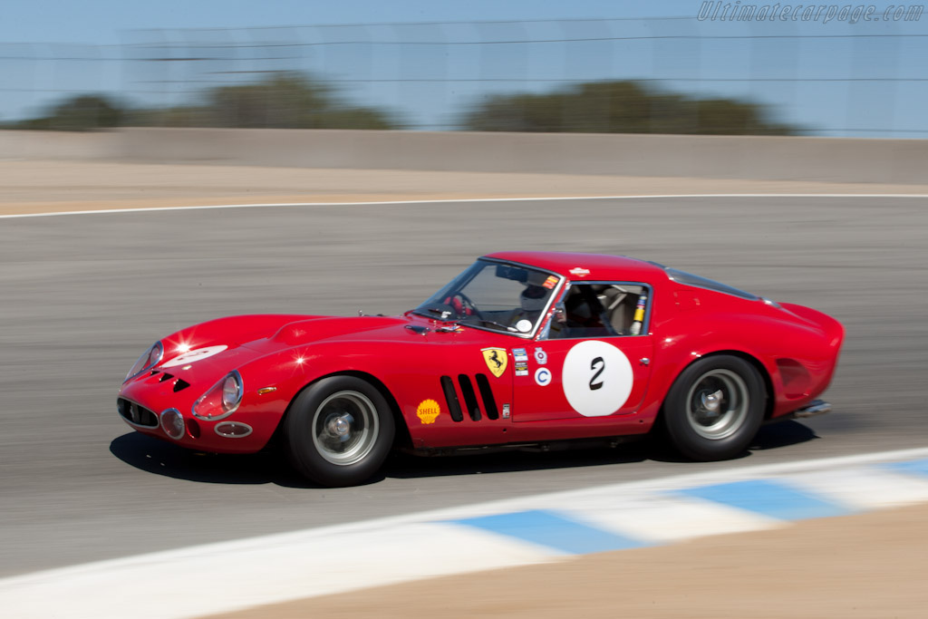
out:
<path id="1" fill-rule="evenodd" d="M 655 279 L 666 280 L 668 278 L 664 267 L 658 264 L 627 256 L 610 256 L 601 253 L 497 251 L 483 257 L 537 266 L 574 280 L 652 282 Z M 578 274 L 571 273 L 573 269 L 586 269 L 589 274 L 578 277 Z"/>

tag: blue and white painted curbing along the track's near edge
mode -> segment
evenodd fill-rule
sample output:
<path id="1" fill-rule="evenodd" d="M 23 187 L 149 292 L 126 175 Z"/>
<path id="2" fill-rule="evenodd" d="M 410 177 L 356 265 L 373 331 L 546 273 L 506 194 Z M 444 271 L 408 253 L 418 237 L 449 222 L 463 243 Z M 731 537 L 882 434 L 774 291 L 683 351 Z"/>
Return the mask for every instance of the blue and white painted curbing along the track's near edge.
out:
<path id="1" fill-rule="evenodd" d="M 928 448 L 725 469 L 0 579 L 16 617 L 192 617 L 928 502 Z"/>

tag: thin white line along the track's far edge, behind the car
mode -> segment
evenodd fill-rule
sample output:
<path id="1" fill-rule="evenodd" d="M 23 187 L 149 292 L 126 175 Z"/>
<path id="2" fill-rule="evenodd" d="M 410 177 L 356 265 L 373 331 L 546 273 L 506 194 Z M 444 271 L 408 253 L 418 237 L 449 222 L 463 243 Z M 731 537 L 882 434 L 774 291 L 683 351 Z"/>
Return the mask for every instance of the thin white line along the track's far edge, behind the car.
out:
<path id="1" fill-rule="evenodd" d="M 389 206 L 391 204 L 454 204 L 466 202 L 529 202 L 558 200 L 660 200 L 677 198 L 928 198 L 923 193 L 680 193 L 620 196 L 548 196 L 535 198 L 453 198 L 443 200 L 377 200 L 360 202 L 262 202 L 257 204 L 208 204 L 200 206 L 157 206 L 135 209 L 100 209 L 91 211 L 58 211 L 51 213 L 12 213 L 0 219 L 27 219 L 63 215 L 97 215 L 107 213 L 158 213 L 162 211 L 208 211 L 212 209 L 260 209 L 288 206 Z"/>

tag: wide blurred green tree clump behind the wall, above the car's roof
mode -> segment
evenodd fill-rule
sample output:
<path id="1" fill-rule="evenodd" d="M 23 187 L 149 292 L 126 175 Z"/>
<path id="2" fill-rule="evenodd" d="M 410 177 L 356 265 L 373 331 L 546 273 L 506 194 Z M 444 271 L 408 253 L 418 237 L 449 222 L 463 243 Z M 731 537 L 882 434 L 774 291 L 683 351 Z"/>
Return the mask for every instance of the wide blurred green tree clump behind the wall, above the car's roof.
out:
<path id="1" fill-rule="evenodd" d="M 465 114 L 470 131 L 789 135 L 767 110 L 734 99 L 701 99 L 631 81 L 579 84 L 547 94 L 497 95 Z"/>

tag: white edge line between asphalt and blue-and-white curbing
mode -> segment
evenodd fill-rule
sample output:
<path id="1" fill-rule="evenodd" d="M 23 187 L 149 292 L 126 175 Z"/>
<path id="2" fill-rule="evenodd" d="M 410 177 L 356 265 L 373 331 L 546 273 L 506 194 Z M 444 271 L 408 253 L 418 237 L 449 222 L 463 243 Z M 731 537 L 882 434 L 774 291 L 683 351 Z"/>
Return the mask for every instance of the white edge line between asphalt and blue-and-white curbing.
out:
<path id="1" fill-rule="evenodd" d="M 636 482 L 625 482 L 621 484 L 603 484 L 599 486 L 589 486 L 577 490 L 568 490 L 554 493 L 545 493 L 541 495 L 522 496 L 518 498 L 502 499 L 498 501 L 489 501 L 485 503 L 469 506 L 471 508 L 480 508 L 486 511 L 497 511 L 506 509 L 509 506 L 517 507 L 523 503 L 539 500 L 557 499 L 562 501 L 574 495 L 581 495 L 590 492 L 602 492 L 610 490 L 636 490 L 650 488 L 652 490 L 686 487 L 694 484 L 718 483 L 733 479 L 742 479 L 746 477 L 761 477 L 774 474 L 789 473 L 793 471 L 802 471 L 812 467 L 829 468 L 843 465 L 867 464 L 872 462 L 904 460 L 908 458 L 928 457 L 928 447 L 917 447 L 911 449 L 900 449 L 895 451 L 875 452 L 870 454 L 860 454 L 857 456 L 838 456 L 833 458 L 817 458 L 809 460 L 800 460 L 797 462 L 781 462 L 775 464 L 762 464 L 753 467 L 744 467 L 738 469 L 726 469 L 724 471 L 706 471 L 700 473 L 688 473 L 683 475 L 673 475 L 670 477 L 656 478 L 651 480 L 639 480 Z M 282 545 L 295 538 L 305 535 L 333 535 L 339 533 L 351 532 L 357 529 L 385 528 L 395 524 L 406 522 L 422 522 L 423 520 L 448 520 L 458 514 L 465 506 L 454 508 L 433 509 L 428 511 L 419 511 L 397 516 L 388 516 L 385 518 L 349 522 L 347 524 L 334 524 L 329 526 L 314 527 L 298 531 L 277 533 L 271 535 L 258 535 L 245 539 L 229 540 L 224 542 L 214 542 L 211 544 L 200 544 L 184 548 L 172 548 L 169 550 L 159 550 L 148 552 L 129 557 L 118 559 L 108 559 L 104 561 L 91 561 L 79 563 L 48 570 L 41 570 L 27 574 L 17 574 L 0 578 L 0 587 L 15 587 L 17 584 L 35 582 L 36 580 L 57 579 L 69 576 L 85 574 L 97 570 L 115 569 L 121 566 L 130 566 L 140 562 L 168 562 L 183 560 L 187 557 L 201 556 L 204 553 L 226 554 L 240 550 L 247 550 L 255 547 L 264 547 L 266 545 Z"/>

